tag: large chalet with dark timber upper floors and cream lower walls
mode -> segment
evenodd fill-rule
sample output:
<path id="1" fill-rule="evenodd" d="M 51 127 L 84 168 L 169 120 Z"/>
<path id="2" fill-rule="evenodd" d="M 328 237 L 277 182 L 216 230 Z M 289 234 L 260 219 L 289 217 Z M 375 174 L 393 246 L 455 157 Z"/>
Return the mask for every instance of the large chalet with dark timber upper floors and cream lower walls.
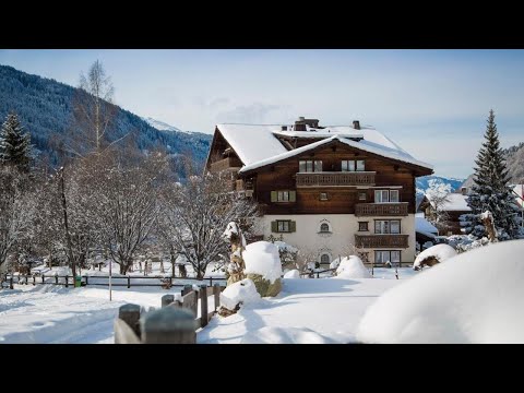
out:
<path id="1" fill-rule="evenodd" d="M 353 245 L 376 263 L 415 259 L 415 178 L 432 166 L 371 127 L 217 124 L 206 169 L 254 198 L 264 239 L 329 264 Z"/>

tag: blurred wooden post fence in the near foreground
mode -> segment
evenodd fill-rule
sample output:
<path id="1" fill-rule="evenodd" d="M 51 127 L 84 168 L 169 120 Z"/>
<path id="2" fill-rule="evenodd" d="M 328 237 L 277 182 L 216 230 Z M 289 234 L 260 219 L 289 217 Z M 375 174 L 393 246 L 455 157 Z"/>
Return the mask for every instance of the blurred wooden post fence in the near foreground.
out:
<path id="1" fill-rule="evenodd" d="M 195 344 L 196 330 L 206 326 L 218 309 L 224 288 L 219 284 L 204 284 L 199 289 L 186 285 L 180 296 L 164 295 L 162 308 L 148 312 L 138 305 L 121 306 L 115 320 L 115 344 Z M 211 295 L 212 311 L 207 302 Z"/>

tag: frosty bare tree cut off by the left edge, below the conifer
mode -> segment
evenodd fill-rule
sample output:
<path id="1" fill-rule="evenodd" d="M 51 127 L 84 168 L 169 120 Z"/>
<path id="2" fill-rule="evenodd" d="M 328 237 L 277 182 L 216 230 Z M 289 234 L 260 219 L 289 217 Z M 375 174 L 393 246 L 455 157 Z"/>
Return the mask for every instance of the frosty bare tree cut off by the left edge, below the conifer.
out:
<path id="1" fill-rule="evenodd" d="M 0 265 L 29 236 L 36 203 L 32 182 L 14 167 L 0 166 Z"/>

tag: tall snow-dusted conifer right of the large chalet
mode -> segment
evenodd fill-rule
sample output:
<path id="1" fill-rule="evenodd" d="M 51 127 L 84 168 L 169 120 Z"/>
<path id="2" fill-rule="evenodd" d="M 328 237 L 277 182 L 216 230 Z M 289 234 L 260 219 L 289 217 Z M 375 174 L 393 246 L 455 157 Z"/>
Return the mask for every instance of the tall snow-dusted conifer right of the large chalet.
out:
<path id="1" fill-rule="evenodd" d="M 512 189 L 509 187 L 508 169 L 500 148 L 492 109 L 489 111 L 484 138 L 485 142 L 475 159 L 475 183 L 467 199 L 472 214 L 464 216 L 465 230 L 466 234 L 478 238 L 487 236 L 479 215 L 489 211 L 493 215 L 499 240 L 514 239 L 519 236 L 521 218 Z"/>

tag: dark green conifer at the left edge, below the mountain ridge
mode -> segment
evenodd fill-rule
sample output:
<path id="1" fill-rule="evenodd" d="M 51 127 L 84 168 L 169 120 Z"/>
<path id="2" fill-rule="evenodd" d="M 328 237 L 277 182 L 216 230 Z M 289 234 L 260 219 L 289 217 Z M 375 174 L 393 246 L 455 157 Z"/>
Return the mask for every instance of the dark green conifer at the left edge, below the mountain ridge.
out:
<path id="1" fill-rule="evenodd" d="M 16 114 L 9 114 L 0 130 L 0 163 L 29 170 L 31 135 L 24 132 Z"/>

